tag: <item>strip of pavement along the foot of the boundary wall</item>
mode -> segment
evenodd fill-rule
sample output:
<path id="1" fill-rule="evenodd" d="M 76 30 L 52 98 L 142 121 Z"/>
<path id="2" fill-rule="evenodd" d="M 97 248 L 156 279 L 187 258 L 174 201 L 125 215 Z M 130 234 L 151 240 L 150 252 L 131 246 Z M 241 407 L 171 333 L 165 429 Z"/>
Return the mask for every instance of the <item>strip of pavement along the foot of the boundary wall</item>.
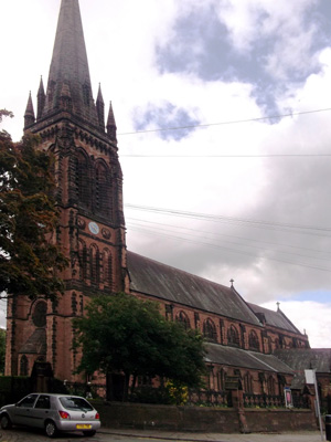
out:
<path id="1" fill-rule="evenodd" d="M 250 433 L 250 434 L 223 434 L 223 433 L 182 433 L 157 430 L 111 430 L 100 429 L 99 433 L 114 434 L 142 440 L 164 440 L 181 442 L 320 442 L 325 441 L 325 434 L 320 431 L 298 431 L 288 433 Z M 323 438 L 323 439 L 322 439 Z"/>

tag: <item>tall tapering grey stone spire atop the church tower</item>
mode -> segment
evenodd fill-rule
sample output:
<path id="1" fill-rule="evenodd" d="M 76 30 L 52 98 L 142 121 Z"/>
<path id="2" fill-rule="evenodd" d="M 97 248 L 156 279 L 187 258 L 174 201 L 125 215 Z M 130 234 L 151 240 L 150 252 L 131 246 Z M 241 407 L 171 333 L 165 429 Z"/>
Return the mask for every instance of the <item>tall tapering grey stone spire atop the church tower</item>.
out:
<path id="1" fill-rule="evenodd" d="M 71 97 L 72 113 L 99 126 L 92 95 L 89 69 L 78 0 L 62 0 L 43 116 L 68 110 L 63 92 Z"/>

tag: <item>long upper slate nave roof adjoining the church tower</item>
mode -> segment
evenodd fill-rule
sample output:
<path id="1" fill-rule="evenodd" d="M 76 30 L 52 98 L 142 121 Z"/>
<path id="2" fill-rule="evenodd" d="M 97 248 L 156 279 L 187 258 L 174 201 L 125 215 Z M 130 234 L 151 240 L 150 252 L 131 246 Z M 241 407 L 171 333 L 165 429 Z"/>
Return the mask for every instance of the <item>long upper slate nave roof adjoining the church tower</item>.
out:
<path id="1" fill-rule="evenodd" d="M 137 253 L 128 252 L 127 259 L 132 291 L 261 326 L 235 290 Z"/>

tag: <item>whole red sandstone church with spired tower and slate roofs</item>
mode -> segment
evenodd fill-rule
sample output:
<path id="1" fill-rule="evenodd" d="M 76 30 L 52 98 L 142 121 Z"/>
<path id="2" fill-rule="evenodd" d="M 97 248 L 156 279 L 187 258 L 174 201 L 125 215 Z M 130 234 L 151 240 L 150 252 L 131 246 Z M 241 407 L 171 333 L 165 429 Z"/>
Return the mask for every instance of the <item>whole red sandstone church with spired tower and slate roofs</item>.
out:
<path id="1" fill-rule="evenodd" d="M 6 373 L 29 376 L 35 361 L 46 361 L 56 378 L 79 380 L 72 319 L 89 298 L 126 292 L 159 302 L 169 320 L 201 330 L 211 390 L 237 382 L 246 393 L 284 394 L 297 372 L 288 355 L 305 352 L 307 361 L 313 350 L 279 306 L 249 304 L 233 283 L 220 285 L 127 249 L 116 130 L 100 86 L 93 97 L 78 0 L 62 0 L 47 84 L 40 83 L 36 112 L 29 97 L 24 131 L 39 134 L 39 149 L 55 158 L 61 219 L 54 240 L 70 266 L 56 302 L 9 301 Z"/>

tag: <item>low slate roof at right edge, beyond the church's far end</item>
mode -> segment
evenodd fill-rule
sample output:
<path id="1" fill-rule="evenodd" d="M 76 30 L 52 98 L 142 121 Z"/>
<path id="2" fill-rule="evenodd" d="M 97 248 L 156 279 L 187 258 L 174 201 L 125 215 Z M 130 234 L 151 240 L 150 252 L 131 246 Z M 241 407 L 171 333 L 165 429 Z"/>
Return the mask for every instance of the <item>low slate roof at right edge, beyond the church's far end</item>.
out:
<path id="1" fill-rule="evenodd" d="M 316 369 L 317 373 L 328 373 L 331 370 L 330 348 L 295 348 L 275 350 L 275 356 L 291 367 L 296 376 L 291 388 L 301 389 L 306 383 L 305 370 Z"/>

